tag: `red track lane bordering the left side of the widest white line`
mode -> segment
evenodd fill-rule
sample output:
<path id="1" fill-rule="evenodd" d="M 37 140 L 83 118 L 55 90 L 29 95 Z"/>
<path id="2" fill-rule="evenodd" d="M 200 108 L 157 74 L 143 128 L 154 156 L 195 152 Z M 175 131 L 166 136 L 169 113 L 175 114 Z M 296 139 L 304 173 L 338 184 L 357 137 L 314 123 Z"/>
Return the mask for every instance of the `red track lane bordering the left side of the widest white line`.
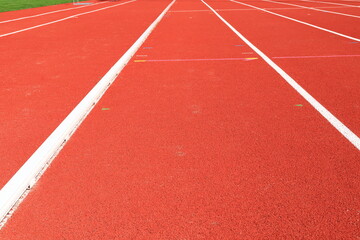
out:
<path id="1" fill-rule="evenodd" d="M 165 4 L 141 1 L 0 39 L 1 187 Z"/>

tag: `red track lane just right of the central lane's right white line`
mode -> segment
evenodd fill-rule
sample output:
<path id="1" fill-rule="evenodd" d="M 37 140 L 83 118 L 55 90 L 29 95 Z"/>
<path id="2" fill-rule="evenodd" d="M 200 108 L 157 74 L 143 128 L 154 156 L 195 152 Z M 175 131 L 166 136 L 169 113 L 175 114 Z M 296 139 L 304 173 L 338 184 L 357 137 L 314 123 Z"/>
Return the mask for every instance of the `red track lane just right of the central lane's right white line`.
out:
<path id="1" fill-rule="evenodd" d="M 210 2 L 213 8 L 223 3 Z M 224 3 L 229 7 L 228 3 Z M 234 3 L 234 6 L 236 4 Z M 331 113 L 359 135 L 360 89 L 358 57 L 305 58 L 305 56 L 359 55 L 358 43 L 263 12 L 221 12 L 236 29 L 273 59 Z M 286 29 L 286 31 L 284 31 Z M 329 65 L 330 64 L 330 65 Z M 311 69 L 311 71 L 308 71 Z"/>

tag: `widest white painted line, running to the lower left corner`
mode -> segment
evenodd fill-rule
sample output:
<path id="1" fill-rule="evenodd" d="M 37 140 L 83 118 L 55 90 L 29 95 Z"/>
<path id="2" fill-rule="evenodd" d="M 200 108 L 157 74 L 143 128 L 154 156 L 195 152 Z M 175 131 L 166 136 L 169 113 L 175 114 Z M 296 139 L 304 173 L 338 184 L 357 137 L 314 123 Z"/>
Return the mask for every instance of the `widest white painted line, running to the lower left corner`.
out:
<path id="1" fill-rule="evenodd" d="M 95 85 L 83 100 L 71 111 L 55 131 L 41 144 L 34 154 L 15 173 L 15 175 L 0 190 L 0 222 L 4 225 L 8 219 L 8 213 L 17 203 L 20 197 L 31 188 L 38 180 L 39 173 L 50 164 L 61 148 L 76 131 L 81 122 L 90 113 L 95 104 L 100 100 L 109 86 L 115 81 L 129 60 L 145 42 L 150 33 L 164 17 L 169 8 L 174 4 L 173 0 L 155 21 L 146 29 L 138 40 L 126 51 L 115 63 L 105 76 Z M 0 227 L 1 227 L 0 226 Z"/>

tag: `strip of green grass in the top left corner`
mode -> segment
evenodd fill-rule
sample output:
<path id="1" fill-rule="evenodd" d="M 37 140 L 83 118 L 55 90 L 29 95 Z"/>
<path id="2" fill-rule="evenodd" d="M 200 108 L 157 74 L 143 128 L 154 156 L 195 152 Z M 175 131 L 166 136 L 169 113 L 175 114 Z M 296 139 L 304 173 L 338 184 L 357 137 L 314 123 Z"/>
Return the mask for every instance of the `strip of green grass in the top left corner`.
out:
<path id="1" fill-rule="evenodd" d="M 0 12 L 69 3 L 72 0 L 0 0 Z"/>

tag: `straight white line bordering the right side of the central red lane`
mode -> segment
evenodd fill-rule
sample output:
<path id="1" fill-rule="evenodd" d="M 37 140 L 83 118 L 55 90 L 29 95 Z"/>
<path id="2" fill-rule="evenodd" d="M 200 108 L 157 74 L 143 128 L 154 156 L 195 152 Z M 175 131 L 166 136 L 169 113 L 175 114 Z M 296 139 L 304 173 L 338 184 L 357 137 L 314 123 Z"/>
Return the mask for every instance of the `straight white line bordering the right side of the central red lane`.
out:
<path id="1" fill-rule="evenodd" d="M 204 0 L 201 0 L 213 13 L 220 18 L 241 40 L 243 40 L 254 52 L 256 52 L 264 61 L 269 64 L 284 80 L 290 84 L 303 98 L 306 99 L 331 125 L 333 125 L 346 139 L 348 139 L 358 150 L 360 150 L 360 138 L 347 128 L 339 119 L 313 98 L 304 88 L 302 88 L 292 77 L 274 63 L 268 56 L 261 52 L 254 44 L 247 40 L 240 32 L 230 25 L 223 17 L 211 8 Z"/>

